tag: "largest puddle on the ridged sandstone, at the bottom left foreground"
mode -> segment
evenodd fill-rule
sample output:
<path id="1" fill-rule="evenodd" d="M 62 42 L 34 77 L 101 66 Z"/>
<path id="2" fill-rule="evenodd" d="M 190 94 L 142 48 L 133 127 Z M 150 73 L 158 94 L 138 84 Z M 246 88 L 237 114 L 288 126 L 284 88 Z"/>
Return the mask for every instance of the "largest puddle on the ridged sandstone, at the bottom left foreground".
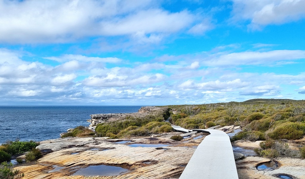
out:
<path id="1" fill-rule="evenodd" d="M 81 168 L 73 175 L 84 175 L 84 176 L 117 176 L 128 172 L 128 169 L 120 166 L 109 166 L 109 165 L 91 165 L 86 168 Z"/>

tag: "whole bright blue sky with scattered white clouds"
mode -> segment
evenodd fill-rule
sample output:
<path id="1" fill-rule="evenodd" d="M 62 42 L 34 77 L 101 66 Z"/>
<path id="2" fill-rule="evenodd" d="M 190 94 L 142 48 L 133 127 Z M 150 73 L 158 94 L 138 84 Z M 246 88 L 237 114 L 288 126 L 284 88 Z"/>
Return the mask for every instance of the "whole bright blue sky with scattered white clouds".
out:
<path id="1" fill-rule="evenodd" d="M 0 0 L 0 105 L 305 97 L 305 0 Z"/>

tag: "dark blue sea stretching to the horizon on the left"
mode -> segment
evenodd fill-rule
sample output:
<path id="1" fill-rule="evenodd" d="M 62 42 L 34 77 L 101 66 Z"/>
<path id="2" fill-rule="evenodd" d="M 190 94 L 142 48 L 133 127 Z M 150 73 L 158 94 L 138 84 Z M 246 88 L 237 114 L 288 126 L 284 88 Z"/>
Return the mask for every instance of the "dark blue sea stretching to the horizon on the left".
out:
<path id="1" fill-rule="evenodd" d="M 68 128 L 89 126 L 90 114 L 135 113 L 141 106 L 0 106 L 0 144 L 7 140 L 59 138 Z"/>

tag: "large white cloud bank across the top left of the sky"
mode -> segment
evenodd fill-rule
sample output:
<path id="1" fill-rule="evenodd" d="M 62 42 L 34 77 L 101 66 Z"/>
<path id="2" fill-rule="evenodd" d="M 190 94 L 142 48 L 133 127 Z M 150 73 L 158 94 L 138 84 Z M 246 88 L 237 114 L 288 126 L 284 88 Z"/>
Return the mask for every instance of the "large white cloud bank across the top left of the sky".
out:
<path id="1" fill-rule="evenodd" d="M 162 38 L 159 33 L 178 32 L 195 20 L 186 10 L 173 13 L 158 6 L 152 1 L 1 0 L 0 42 L 57 43 L 131 35 L 154 43 Z"/>

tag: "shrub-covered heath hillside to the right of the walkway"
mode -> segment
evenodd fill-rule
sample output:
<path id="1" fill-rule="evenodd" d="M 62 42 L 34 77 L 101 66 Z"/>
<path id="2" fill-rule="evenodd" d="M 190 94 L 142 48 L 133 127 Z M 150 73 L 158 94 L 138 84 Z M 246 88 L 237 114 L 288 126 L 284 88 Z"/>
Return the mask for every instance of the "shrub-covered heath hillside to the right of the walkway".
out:
<path id="1" fill-rule="evenodd" d="M 232 140 L 300 139 L 305 134 L 305 101 L 257 99 L 203 105 L 169 106 L 172 123 L 187 129 L 240 125 Z"/>

